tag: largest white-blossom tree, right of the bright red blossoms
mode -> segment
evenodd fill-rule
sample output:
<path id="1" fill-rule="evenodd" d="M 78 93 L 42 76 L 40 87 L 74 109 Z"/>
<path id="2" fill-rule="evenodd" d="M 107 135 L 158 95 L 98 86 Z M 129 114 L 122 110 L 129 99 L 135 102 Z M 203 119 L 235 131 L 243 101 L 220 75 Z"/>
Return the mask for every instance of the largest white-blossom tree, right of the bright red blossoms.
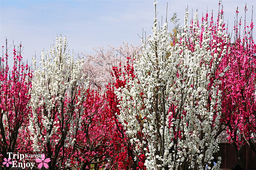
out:
<path id="1" fill-rule="evenodd" d="M 158 29 L 156 19 L 134 73 L 118 78 L 119 120 L 147 169 L 204 169 L 219 149 L 220 77 L 228 69 L 219 67 L 229 42 L 222 14 L 199 25 L 195 13 L 189 25 L 187 12 L 173 46 L 167 23 Z"/>

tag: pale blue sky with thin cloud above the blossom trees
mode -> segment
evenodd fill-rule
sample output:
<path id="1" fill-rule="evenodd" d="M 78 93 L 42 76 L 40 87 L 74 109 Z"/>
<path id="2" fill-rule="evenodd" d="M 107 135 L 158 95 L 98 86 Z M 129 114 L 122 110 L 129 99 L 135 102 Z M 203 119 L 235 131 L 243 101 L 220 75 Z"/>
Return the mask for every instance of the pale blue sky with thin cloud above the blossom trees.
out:
<path id="1" fill-rule="evenodd" d="M 185 10 L 199 16 L 208 10 L 217 14 L 219 0 L 158 0 L 158 18 L 171 18 L 177 12 L 183 25 Z M 138 45 L 142 30 L 151 33 L 154 22 L 154 0 L 0 0 L 0 45 L 22 42 L 23 57 L 29 62 L 49 50 L 57 35 L 67 37 L 69 49 L 75 53 L 95 54 L 93 48 L 118 47 L 123 42 Z M 233 27 L 235 10 L 244 16 L 248 6 L 248 22 L 256 0 L 223 0 L 224 22 Z M 192 16 L 192 15 L 191 15 Z M 216 15 L 215 15 L 216 16 Z M 256 25 L 256 11 L 254 12 Z M 172 25 L 169 25 L 171 29 Z M 254 34 L 256 35 L 256 33 Z M 11 52 L 12 47 L 9 49 Z"/>

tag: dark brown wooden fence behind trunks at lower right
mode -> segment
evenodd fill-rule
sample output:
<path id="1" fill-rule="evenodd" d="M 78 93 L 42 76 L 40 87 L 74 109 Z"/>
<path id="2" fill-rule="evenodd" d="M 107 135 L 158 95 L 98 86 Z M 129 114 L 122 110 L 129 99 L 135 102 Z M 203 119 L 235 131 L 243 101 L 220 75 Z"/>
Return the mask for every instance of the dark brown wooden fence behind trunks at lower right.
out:
<path id="1" fill-rule="evenodd" d="M 235 149 L 231 144 L 222 143 L 219 154 L 222 157 L 221 168 L 223 170 L 230 170 L 237 164 Z M 256 170 L 256 153 L 249 145 L 246 144 L 241 148 L 241 157 L 245 170 Z"/>

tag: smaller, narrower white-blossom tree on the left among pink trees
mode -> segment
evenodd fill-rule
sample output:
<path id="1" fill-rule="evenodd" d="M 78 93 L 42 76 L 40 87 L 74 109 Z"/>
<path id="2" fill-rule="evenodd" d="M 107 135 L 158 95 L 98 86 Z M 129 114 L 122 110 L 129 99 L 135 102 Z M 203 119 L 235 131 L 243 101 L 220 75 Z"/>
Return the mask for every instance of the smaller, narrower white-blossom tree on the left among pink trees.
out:
<path id="1" fill-rule="evenodd" d="M 88 81 L 83 59 L 74 60 L 67 51 L 66 37 L 42 52 L 40 66 L 33 60 L 32 116 L 30 131 L 33 149 L 51 158 L 49 169 L 65 168 L 70 161 L 84 113 Z"/>

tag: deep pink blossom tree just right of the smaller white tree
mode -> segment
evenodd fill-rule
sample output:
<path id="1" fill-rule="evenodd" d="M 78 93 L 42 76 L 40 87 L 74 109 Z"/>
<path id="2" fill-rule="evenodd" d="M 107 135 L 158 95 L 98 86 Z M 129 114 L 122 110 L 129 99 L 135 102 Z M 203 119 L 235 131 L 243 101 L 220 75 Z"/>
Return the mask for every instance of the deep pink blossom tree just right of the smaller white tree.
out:
<path id="1" fill-rule="evenodd" d="M 111 158 L 113 148 L 111 139 L 114 122 L 104 96 L 94 90 L 88 90 L 86 96 L 87 99 L 83 103 L 86 109 L 75 144 L 75 157 L 81 170 L 90 170 L 92 164 L 95 169 L 106 164 Z"/>

